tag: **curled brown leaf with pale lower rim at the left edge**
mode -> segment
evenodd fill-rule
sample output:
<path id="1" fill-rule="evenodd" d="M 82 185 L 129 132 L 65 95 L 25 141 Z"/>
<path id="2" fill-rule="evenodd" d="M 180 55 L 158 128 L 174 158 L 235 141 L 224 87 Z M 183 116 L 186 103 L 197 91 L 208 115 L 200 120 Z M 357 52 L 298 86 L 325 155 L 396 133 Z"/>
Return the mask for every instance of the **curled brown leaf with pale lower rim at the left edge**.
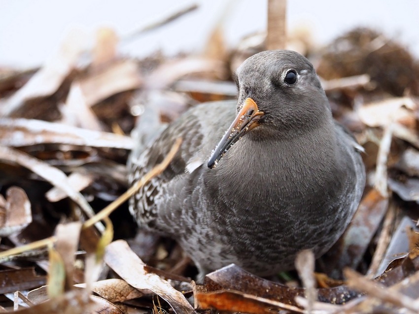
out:
<path id="1" fill-rule="evenodd" d="M 11 187 L 6 192 L 6 200 L 1 197 L 0 217 L 1 237 L 18 232 L 32 222 L 31 203 L 22 188 Z"/>

